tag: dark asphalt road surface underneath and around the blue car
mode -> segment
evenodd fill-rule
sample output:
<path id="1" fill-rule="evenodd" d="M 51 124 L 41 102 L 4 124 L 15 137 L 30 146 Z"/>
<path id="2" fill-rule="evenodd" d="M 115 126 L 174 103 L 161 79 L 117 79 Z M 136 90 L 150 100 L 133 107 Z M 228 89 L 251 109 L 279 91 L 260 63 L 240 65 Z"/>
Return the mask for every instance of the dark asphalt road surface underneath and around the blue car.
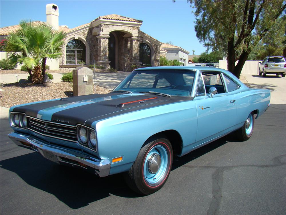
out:
<path id="1" fill-rule="evenodd" d="M 286 105 L 271 105 L 245 142 L 228 135 L 174 161 L 158 192 L 122 174 L 99 178 L 16 146 L 1 119 L 1 214 L 285 214 Z"/>

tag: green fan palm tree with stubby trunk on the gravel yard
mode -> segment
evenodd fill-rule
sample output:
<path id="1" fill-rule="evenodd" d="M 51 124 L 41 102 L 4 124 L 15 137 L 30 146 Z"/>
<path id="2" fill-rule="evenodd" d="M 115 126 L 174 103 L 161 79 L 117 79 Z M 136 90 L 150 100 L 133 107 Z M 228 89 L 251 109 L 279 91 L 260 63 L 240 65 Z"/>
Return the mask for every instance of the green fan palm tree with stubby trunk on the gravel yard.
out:
<path id="1" fill-rule="evenodd" d="M 61 46 L 64 38 L 64 32 L 58 32 L 51 26 L 21 21 L 19 30 L 7 38 L 8 50 L 13 51 L 8 59 L 12 63 L 24 64 L 33 83 L 42 83 L 46 60 L 58 59 L 62 55 Z"/>

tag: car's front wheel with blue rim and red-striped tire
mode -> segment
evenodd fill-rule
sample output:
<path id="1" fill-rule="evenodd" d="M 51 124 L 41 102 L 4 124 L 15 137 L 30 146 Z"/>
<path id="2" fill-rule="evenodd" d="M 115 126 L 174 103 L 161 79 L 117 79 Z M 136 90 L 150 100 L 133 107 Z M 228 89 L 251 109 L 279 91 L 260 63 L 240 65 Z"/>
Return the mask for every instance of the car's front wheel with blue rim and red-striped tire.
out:
<path id="1" fill-rule="evenodd" d="M 157 139 L 143 146 L 126 173 L 128 186 L 143 195 L 158 191 L 166 182 L 173 162 L 172 145 L 167 139 Z"/>

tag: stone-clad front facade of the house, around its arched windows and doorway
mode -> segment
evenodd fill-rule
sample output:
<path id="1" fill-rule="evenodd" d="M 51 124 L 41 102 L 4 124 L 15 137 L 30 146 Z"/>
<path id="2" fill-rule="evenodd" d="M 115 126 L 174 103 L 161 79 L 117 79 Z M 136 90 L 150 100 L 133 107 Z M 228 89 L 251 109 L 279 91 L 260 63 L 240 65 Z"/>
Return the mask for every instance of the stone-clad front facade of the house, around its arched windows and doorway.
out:
<path id="1" fill-rule="evenodd" d="M 78 65 L 66 64 L 66 46 L 74 39 L 81 40 L 86 46 L 86 65 L 93 64 L 95 61 L 97 66 L 110 68 L 109 38 L 112 35 L 115 37 L 116 46 L 115 53 L 113 53 L 115 58 L 112 58 L 116 61 L 114 69 L 132 71 L 132 66 L 140 66 L 140 43 L 146 43 L 150 47 L 151 64 L 159 66 L 162 43 L 140 31 L 142 21 L 124 18 L 127 21 L 120 21 L 120 19 L 114 21 L 99 17 L 90 24 L 79 26 L 68 32 L 62 49 L 63 56 L 59 60 L 61 69 L 78 67 Z M 130 23 L 128 23 L 129 19 Z"/>

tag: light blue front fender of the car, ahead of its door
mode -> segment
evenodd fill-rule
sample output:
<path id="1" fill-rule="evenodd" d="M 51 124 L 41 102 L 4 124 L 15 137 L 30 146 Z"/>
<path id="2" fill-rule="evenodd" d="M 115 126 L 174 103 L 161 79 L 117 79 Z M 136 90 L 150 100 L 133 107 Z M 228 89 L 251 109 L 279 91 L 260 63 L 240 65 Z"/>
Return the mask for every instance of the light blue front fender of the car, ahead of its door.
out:
<path id="1" fill-rule="evenodd" d="M 98 153 L 102 159 L 123 156 L 123 160 L 111 164 L 110 174 L 127 171 L 135 161 L 142 145 L 152 135 L 176 130 L 183 145 L 195 142 L 197 113 L 193 101 L 181 101 L 168 105 L 122 114 L 94 122 L 98 138 Z"/>

